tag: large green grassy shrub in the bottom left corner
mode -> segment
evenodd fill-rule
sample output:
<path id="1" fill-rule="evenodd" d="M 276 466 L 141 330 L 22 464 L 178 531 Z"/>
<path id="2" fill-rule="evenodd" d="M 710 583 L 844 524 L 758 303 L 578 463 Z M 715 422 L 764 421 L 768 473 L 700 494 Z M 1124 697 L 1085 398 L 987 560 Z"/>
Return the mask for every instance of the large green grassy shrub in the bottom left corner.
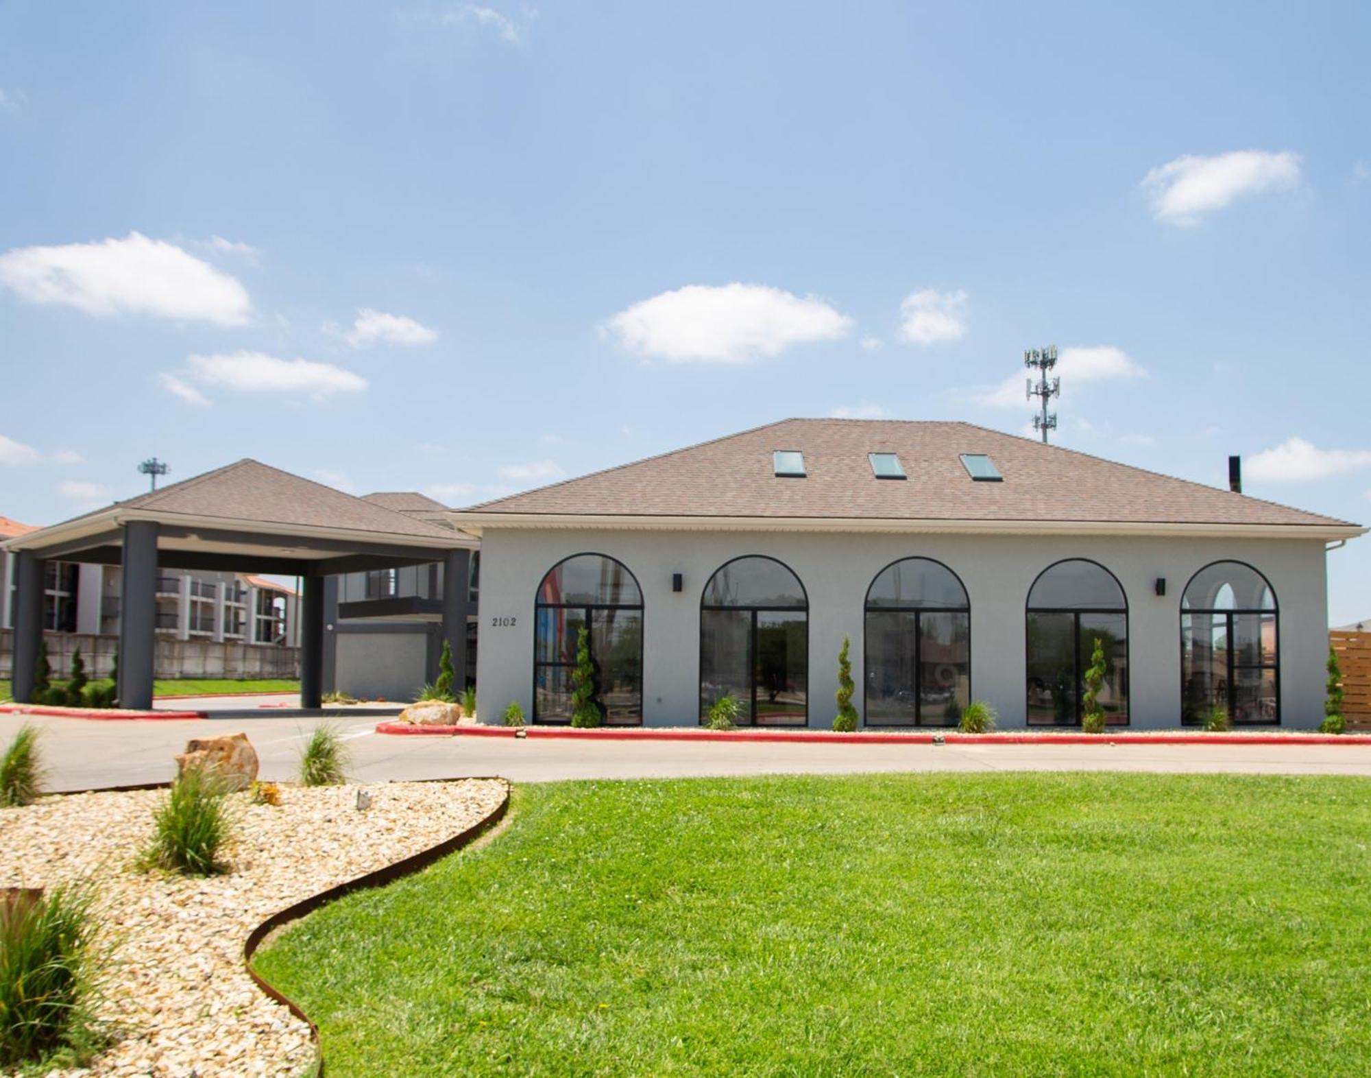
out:
<path id="1" fill-rule="evenodd" d="M 81 1066 L 92 1055 L 92 911 L 88 883 L 0 897 L 0 1067 Z"/>

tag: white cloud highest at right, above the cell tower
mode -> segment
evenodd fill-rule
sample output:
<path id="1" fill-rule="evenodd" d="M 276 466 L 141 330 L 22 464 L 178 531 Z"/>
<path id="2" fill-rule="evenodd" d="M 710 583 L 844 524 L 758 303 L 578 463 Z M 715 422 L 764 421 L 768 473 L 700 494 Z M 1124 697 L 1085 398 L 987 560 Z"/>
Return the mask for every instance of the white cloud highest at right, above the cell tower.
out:
<path id="1" fill-rule="evenodd" d="M 1300 184 L 1300 155 L 1289 149 L 1235 149 L 1212 158 L 1186 155 L 1149 171 L 1142 185 L 1158 221 L 1197 225 L 1242 195 L 1289 191 Z"/>

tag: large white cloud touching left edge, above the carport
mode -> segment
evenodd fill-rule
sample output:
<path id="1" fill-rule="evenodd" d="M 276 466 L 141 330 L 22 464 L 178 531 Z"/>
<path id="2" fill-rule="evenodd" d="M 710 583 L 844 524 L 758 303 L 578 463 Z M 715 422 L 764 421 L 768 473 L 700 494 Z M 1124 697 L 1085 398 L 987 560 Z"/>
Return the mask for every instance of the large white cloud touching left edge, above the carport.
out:
<path id="1" fill-rule="evenodd" d="M 208 262 L 137 232 L 125 239 L 15 247 L 0 255 L 0 284 L 30 303 L 86 314 L 156 314 L 219 325 L 247 321 L 247 289 Z"/>

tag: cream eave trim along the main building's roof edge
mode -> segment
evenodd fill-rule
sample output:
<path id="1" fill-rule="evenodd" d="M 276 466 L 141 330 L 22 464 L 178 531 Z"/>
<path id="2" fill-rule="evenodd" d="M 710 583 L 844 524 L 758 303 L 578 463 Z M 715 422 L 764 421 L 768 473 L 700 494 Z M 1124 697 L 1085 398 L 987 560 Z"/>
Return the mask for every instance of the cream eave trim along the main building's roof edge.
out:
<path id="1" fill-rule="evenodd" d="M 452 527 L 480 536 L 492 529 L 624 529 L 624 531 L 765 531 L 765 532 L 875 532 L 954 535 L 1137 535 L 1231 536 L 1260 539 L 1355 539 L 1368 528 L 1359 524 L 1183 524 L 1174 521 L 1097 520 L 901 520 L 864 517 L 668 517 L 553 513 L 448 514 Z"/>

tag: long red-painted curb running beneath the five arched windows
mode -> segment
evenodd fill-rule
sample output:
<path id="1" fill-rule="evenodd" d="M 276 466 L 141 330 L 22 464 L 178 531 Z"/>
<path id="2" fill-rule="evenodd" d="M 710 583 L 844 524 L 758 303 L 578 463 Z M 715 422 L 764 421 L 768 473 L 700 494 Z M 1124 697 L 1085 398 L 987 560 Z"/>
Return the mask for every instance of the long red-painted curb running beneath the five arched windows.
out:
<path id="1" fill-rule="evenodd" d="M 591 741 L 750 741 L 814 745 L 932 745 L 941 738 L 947 745 L 1363 745 L 1371 738 L 1346 734 L 836 734 L 829 730 L 695 730 L 662 727 L 658 730 L 576 730 L 572 727 L 495 727 L 495 726 L 410 726 L 377 723 L 377 734 L 463 738 L 588 738 Z"/>

